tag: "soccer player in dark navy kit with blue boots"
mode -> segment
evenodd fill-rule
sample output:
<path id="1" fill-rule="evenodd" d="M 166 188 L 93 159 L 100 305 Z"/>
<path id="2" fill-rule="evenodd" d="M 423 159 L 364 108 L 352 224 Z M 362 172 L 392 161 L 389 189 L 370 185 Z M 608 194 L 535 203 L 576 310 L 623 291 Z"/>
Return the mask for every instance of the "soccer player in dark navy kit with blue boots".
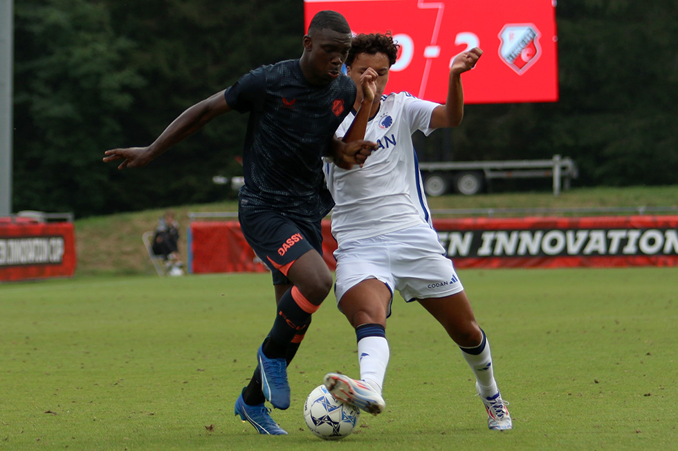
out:
<path id="1" fill-rule="evenodd" d="M 119 169 L 145 166 L 210 120 L 228 111 L 250 113 L 239 192 L 239 220 L 250 246 L 273 272 L 277 314 L 257 350 L 257 369 L 235 403 L 235 414 L 261 434 L 287 434 L 264 401 L 286 409 L 286 367 L 332 287 L 322 260 L 320 220 L 333 207 L 324 184 L 322 156 L 341 167 L 362 164 L 376 143 L 354 140 L 365 132 L 376 91 L 376 73 L 361 80 L 363 104 L 354 132 L 334 137 L 354 105 L 357 88 L 342 75 L 351 29 L 338 12 L 318 12 L 303 38 L 300 59 L 262 66 L 235 84 L 191 106 L 153 144 L 105 152 Z M 362 128 L 360 130 L 360 128 Z"/>

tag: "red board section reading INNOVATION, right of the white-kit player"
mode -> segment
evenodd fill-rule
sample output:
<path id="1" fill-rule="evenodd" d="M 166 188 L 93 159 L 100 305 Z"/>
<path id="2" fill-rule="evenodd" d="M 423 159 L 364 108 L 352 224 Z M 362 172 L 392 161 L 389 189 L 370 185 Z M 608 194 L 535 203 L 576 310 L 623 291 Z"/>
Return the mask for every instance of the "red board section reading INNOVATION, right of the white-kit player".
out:
<path id="1" fill-rule="evenodd" d="M 434 220 L 458 268 L 678 266 L 678 216 Z"/>

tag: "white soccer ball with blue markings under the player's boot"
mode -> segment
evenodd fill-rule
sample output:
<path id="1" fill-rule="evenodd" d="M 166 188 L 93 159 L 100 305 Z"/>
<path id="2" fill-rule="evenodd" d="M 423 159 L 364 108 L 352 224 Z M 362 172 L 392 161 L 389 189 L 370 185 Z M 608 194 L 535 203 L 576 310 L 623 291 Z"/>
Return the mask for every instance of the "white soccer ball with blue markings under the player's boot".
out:
<path id="1" fill-rule="evenodd" d="M 356 428 L 360 409 L 338 401 L 324 385 L 318 385 L 306 398 L 304 420 L 311 432 L 321 439 L 339 440 Z"/>

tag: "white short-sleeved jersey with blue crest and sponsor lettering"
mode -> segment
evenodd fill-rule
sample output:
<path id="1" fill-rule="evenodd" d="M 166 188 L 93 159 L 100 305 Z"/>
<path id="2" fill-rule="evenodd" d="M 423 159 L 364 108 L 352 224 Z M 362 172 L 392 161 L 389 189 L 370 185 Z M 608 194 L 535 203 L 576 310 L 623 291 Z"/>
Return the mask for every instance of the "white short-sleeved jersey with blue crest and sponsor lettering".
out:
<path id="1" fill-rule="evenodd" d="M 326 160 L 325 178 L 336 203 L 332 234 L 339 243 L 431 224 L 412 133 L 421 130 L 430 135 L 431 115 L 438 105 L 410 93 L 383 96 L 365 132 L 365 140 L 376 142 L 378 148 L 363 167 L 347 171 Z M 337 137 L 344 137 L 354 117 L 351 113 L 344 119 Z"/>

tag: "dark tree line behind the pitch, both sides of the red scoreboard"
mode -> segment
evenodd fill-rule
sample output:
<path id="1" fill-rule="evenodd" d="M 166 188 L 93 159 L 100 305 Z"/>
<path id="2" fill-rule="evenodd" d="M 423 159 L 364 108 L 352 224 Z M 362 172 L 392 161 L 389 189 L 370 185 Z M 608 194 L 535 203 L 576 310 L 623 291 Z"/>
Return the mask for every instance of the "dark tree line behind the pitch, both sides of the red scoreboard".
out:
<path id="1" fill-rule="evenodd" d="M 572 157 L 578 185 L 675 184 L 678 3 L 558 3 L 560 100 L 468 105 L 455 160 Z M 235 195 L 246 115 L 217 120 L 142 171 L 101 162 L 147 145 L 187 106 L 301 55 L 301 0 L 15 0 L 13 210 L 78 217 Z M 437 135 L 437 137 L 436 137 Z"/>

